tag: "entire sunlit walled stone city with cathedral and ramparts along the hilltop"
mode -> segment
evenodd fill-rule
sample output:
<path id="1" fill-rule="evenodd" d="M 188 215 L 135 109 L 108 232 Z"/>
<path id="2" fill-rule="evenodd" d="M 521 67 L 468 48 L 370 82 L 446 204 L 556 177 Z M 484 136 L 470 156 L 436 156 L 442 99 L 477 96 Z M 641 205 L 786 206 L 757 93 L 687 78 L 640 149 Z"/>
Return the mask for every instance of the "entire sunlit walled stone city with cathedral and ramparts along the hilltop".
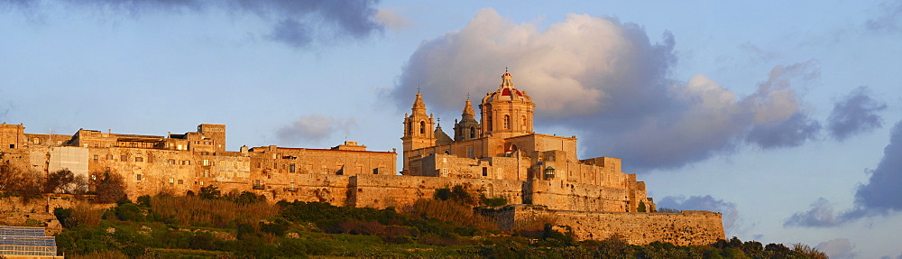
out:
<path id="1" fill-rule="evenodd" d="M 469 97 L 449 136 L 427 113 L 422 94 L 404 116 L 403 169 L 395 151 L 367 151 L 345 142 L 329 149 L 275 145 L 226 151 L 226 125 L 202 124 L 185 134 L 26 134 L 0 125 L 3 160 L 46 175 L 69 169 L 90 180 L 105 171 L 124 176 L 126 192 L 192 195 L 216 186 L 226 194 L 252 191 L 268 200 L 328 202 L 336 206 L 403 208 L 460 185 L 474 194 L 503 197 L 502 227 L 535 217 L 557 218 L 581 239 L 626 236 L 631 244 L 667 241 L 705 245 L 724 237 L 721 214 L 655 210 L 645 183 L 621 171 L 611 157 L 579 159 L 576 137 L 537 134 L 526 91 L 505 72 L 486 93 L 476 117 Z"/>

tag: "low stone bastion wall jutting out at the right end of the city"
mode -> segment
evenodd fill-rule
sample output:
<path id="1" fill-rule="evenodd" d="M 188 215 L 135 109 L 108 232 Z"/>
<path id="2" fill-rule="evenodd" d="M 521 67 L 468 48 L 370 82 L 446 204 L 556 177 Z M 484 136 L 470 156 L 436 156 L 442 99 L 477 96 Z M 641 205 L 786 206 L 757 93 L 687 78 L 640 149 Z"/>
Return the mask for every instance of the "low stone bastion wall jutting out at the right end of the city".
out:
<path id="1" fill-rule="evenodd" d="M 556 218 L 579 240 L 603 240 L 615 234 L 631 245 L 660 241 L 674 245 L 709 245 L 724 239 L 721 214 L 686 210 L 683 213 L 624 213 L 551 210 L 541 206 L 512 206 L 501 214 L 503 228 L 519 227 L 536 217 Z"/>

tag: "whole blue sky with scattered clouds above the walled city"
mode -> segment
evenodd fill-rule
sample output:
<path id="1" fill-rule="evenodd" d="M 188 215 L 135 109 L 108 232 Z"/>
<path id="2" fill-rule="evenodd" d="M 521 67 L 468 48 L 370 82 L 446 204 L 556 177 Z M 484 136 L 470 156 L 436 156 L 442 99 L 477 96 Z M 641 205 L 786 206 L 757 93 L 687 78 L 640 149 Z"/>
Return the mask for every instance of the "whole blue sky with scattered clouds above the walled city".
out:
<path id="1" fill-rule="evenodd" d="M 453 134 L 508 69 L 659 208 L 902 258 L 902 3 L 621 2 L 0 0 L 0 121 L 400 152 L 418 89 Z"/>

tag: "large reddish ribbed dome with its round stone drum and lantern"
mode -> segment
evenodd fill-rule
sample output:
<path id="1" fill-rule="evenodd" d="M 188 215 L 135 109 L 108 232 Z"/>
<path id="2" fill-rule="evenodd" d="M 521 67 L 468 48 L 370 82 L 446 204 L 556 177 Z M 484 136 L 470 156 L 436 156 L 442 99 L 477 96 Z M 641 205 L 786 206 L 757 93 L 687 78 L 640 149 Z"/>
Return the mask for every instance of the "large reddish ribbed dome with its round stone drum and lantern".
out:
<path id="1" fill-rule="evenodd" d="M 508 138 L 532 134 L 532 97 L 526 91 L 513 88 L 511 73 L 504 71 L 502 83 L 493 92 L 485 94 L 482 111 L 483 136 Z"/>

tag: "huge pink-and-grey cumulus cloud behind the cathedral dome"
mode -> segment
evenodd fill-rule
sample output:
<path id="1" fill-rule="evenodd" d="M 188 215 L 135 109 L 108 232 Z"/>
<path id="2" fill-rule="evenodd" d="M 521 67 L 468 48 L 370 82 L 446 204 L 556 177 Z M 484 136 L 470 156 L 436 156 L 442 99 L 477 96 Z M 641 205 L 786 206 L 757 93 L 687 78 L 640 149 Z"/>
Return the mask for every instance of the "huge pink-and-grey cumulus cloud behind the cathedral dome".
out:
<path id="1" fill-rule="evenodd" d="M 430 109 L 456 112 L 465 94 L 497 88 L 511 67 L 539 123 L 580 132 L 586 155 L 623 158 L 631 171 L 679 167 L 743 143 L 796 146 L 819 132 L 794 90 L 819 77 L 815 62 L 775 67 L 740 95 L 704 75 L 671 79 L 675 46 L 669 33 L 654 43 L 640 25 L 611 18 L 568 14 L 539 30 L 483 9 L 462 30 L 422 42 L 388 94 L 409 108 L 422 87 Z"/>

